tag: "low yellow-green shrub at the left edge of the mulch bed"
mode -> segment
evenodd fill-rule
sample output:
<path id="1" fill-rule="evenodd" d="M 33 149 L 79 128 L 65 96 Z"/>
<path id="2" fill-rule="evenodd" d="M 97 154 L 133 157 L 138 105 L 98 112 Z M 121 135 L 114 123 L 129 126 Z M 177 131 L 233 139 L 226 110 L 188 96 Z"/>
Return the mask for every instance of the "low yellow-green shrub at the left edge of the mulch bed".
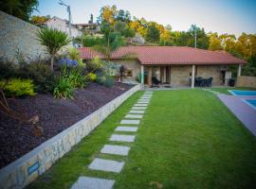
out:
<path id="1" fill-rule="evenodd" d="M 12 78 L 9 81 L 0 81 L 2 88 L 7 96 L 35 95 L 34 85 L 30 79 Z"/>

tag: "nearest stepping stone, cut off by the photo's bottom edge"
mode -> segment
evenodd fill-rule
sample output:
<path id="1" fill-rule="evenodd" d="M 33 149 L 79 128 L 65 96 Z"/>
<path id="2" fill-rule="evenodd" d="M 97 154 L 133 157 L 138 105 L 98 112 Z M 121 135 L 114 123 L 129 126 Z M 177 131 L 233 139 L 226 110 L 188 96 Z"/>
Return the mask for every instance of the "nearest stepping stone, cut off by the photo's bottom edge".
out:
<path id="1" fill-rule="evenodd" d="M 71 189 L 112 189 L 115 180 L 105 180 L 100 178 L 79 177 L 72 185 Z"/>

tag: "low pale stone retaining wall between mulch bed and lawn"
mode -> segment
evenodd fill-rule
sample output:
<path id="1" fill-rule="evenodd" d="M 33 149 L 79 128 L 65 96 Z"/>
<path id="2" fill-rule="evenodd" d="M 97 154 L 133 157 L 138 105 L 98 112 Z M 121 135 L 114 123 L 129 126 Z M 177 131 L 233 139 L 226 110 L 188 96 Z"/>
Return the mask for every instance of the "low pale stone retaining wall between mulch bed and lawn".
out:
<path id="1" fill-rule="evenodd" d="M 2 168 L 0 170 L 0 188 L 23 188 L 38 178 L 138 90 L 140 90 L 140 85 L 119 95 L 119 97 L 110 101 L 98 111 L 91 113 L 41 146 L 37 146 L 20 159 Z"/>

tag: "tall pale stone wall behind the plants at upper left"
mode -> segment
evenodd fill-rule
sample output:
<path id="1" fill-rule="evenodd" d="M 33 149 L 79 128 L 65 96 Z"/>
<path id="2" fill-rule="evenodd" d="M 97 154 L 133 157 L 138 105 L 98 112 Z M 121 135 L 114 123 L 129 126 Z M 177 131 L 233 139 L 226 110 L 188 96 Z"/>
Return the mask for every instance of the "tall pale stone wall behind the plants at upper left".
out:
<path id="1" fill-rule="evenodd" d="M 0 11 L 0 58 L 16 61 L 22 52 L 30 60 L 46 57 L 44 46 L 36 40 L 39 27 Z"/>

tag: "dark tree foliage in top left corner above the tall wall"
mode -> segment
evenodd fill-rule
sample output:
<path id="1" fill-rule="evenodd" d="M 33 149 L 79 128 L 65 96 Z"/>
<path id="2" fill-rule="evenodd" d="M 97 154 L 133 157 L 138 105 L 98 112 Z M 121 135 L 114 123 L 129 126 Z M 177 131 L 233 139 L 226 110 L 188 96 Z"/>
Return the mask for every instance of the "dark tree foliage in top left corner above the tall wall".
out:
<path id="1" fill-rule="evenodd" d="M 22 20 L 28 21 L 34 10 L 38 8 L 38 0 L 1 0 L 0 10 Z"/>

